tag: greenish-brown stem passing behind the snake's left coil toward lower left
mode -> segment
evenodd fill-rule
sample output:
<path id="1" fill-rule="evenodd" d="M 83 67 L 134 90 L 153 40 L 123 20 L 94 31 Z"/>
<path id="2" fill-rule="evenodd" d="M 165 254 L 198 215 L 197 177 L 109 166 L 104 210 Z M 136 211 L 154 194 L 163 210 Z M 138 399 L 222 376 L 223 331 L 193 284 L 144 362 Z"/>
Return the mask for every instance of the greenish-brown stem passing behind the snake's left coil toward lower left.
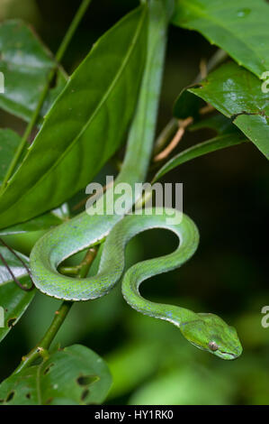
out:
<path id="1" fill-rule="evenodd" d="M 79 278 L 85 278 L 87 275 L 91 264 L 94 262 L 94 258 L 96 256 L 96 253 L 98 251 L 97 247 L 92 247 L 88 250 L 88 252 L 85 254 L 85 258 L 77 266 L 77 277 Z M 13 374 L 20 373 L 24 368 L 31 365 L 36 359 L 43 357 L 47 358 L 49 357 L 49 346 L 51 345 L 51 342 L 53 341 L 54 337 L 57 335 L 59 328 L 62 326 L 64 320 L 67 317 L 67 313 L 71 309 L 74 302 L 64 300 L 62 304 L 60 305 L 59 309 L 55 312 L 55 316 L 46 331 L 45 335 L 41 338 L 40 343 L 37 344 L 37 346 L 33 347 L 29 354 L 22 356 L 22 362 L 19 364 L 19 366 L 15 369 Z"/>

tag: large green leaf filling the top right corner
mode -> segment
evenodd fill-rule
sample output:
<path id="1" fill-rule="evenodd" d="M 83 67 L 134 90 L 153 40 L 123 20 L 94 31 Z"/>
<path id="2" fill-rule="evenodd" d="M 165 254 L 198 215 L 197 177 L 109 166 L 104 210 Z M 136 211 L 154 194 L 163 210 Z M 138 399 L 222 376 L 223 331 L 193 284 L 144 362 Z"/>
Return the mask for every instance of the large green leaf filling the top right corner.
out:
<path id="1" fill-rule="evenodd" d="M 175 25 L 201 32 L 257 77 L 269 69 L 264 0 L 175 0 Z"/>

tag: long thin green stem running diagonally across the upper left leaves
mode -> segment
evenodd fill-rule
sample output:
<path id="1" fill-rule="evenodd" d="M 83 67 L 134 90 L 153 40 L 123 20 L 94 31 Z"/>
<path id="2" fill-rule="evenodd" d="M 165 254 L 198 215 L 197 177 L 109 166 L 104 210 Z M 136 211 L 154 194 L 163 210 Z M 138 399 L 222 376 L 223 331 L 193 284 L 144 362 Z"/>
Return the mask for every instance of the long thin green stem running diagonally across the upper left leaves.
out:
<path id="1" fill-rule="evenodd" d="M 58 48 L 58 51 L 57 51 L 57 53 L 55 55 L 55 65 L 54 65 L 54 67 L 49 72 L 49 77 L 48 77 L 48 79 L 46 81 L 45 87 L 43 88 L 43 90 L 42 90 L 42 92 L 40 94 L 40 99 L 39 99 L 38 105 L 37 105 L 37 107 L 36 107 L 33 115 L 31 116 L 31 121 L 27 125 L 27 127 L 25 129 L 25 132 L 22 135 L 21 143 L 19 144 L 19 146 L 18 146 L 18 148 L 17 148 L 17 150 L 16 150 L 16 152 L 15 152 L 15 154 L 13 156 L 13 160 L 12 160 L 12 162 L 11 162 L 8 170 L 6 171 L 6 174 L 4 176 L 4 180 L 3 180 L 1 191 L 3 191 L 3 189 L 5 188 L 5 186 L 7 184 L 7 181 L 13 175 L 13 171 L 15 170 L 15 167 L 16 167 L 18 161 L 21 158 L 22 151 L 23 151 L 24 147 L 27 144 L 28 137 L 31 135 L 31 131 L 34 128 L 34 126 L 35 126 L 35 124 L 36 124 L 36 122 L 38 120 L 38 117 L 40 115 L 41 107 L 42 107 L 42 105 L 44 103 L 44 100 L 47 97 L 47 94 L 49 92 L 50 83 L 51 83 L 52 79 L 54 78 L 56 69 L 58 69 L 58 63 L 60 62 L 60 60 L 62 60 L 65 52 L 67 51 L 68 44 L 71 41 L 71 39 L 72 39 L 72 37 L 74 35 L 74 32 L 76 31 L 76 28 L 77 28 L 78 24 L 80 23 L 81 19 L 83 18 L 84 14 L 85 14 L 85 11 L 86 11 L 88 5 L 90 5 L 91 1 L 92 0 L 83 0 L 82 1 L 81 5 L 79 6 L 79 8 L 78 8 L 78 10 L 76 12 L 76 15 L 75 15 L 73 21 L 70 23 L 70 26 L 69 26 L 69 28 L 67 30 L 67 33 L 66 33 L 63 41 L 60 43 L 60 46 Z"/>

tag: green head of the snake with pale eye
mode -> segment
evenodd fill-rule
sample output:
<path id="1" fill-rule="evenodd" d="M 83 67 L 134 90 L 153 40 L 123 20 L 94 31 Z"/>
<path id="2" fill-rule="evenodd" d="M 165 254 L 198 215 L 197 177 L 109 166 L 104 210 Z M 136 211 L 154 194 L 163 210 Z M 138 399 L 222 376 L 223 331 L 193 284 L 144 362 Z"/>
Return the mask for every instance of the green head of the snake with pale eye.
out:
<path id="1" fill-rule="evenodd" d="M 237 330 L 214 314 L 196 314 L 197 319 L 180 325 L 182 334 L 194 346 L 221 359 L 236 359 L 242 353 Z"/>

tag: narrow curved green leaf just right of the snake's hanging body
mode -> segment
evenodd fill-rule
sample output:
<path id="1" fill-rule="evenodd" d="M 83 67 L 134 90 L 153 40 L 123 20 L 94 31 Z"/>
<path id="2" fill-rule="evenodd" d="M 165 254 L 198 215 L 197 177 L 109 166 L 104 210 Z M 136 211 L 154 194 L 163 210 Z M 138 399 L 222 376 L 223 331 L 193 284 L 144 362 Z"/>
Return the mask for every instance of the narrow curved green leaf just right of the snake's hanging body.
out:
<path id="1" fill-rule="evenodd" d="M 223 134 L 218 137 L 211 138 L 211 140 L 207 140 L 206 142 L 195 144 L 189 149 L 178 153 L 174 158 L 170 159 L 170 161 L 167 161 L 166 164 L 157 171 L 153 182 L 159 180 L 167 172 L 174 170 L 177 166 L 186 161 L 191 161 L 192 159 L 198 158 L 204 154 L 215 152 L 225 147 L 235 146 L 244 142 L 247 142 L 247 139 L 242 136 L 242 134 L 232 133 Z"/>

